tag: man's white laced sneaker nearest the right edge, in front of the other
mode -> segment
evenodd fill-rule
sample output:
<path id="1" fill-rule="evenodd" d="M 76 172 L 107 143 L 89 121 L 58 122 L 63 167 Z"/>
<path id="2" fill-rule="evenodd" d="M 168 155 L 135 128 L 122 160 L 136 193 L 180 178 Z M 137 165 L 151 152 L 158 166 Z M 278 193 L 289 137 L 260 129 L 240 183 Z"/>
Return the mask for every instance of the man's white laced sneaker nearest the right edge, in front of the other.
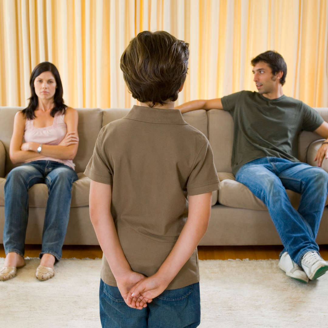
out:
<path id="1" fill-rule="evenodd" d="M 305 253 L 301 258 L 301 266 L 311 280 L 317 279 L 328 271 L 328 263 L 317 252 Z"/>

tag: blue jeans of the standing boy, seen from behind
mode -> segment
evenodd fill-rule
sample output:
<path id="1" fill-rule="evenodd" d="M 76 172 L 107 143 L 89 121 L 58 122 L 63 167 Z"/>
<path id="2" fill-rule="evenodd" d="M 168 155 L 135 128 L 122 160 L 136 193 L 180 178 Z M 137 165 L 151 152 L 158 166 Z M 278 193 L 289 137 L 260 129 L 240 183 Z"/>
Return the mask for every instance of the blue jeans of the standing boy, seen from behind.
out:
<path id="1" fill-rule="evenodd" d="M 117 287 L 100 279 L 99 302 L 103 328 L 194 328 L 200 323 L 199 282 L 165 290 L 137 310 L 126 305 Z"/>

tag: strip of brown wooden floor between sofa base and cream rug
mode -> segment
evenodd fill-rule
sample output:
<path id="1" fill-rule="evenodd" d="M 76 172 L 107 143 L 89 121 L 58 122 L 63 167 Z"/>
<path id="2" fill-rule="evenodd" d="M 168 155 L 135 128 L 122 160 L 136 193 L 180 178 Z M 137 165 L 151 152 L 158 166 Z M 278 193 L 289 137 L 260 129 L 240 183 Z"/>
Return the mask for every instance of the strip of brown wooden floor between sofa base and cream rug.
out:
<path id="1" fill-rule="evenodd" d="M 266 260 L 277 259 L 282 251 L 282 246 L 198 246 L 198 258 L 200 260 L 227 260 L 244 259 Z M 41 245 L 26 245 L 25 256 L 38 257 Z M 320 245 L 320 254 L 328 260 L 328 245 Z M 0 244 L 0 257 L 5 257 L 3 244 Z M 101 258 L 100 246 L 64 245 L 63 258 Z"/>

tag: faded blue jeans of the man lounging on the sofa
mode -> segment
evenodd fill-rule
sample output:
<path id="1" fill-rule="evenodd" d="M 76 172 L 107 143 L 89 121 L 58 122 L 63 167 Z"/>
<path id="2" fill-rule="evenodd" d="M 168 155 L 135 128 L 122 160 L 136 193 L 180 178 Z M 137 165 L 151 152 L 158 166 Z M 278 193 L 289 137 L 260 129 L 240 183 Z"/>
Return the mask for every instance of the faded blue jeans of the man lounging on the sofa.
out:
<path id="1" fill-rule="evenodd" d="M 277 157 L 263 157 L 244 164 L 236 181 L 247 186 L 269 210 L 285 249 L 300 265 L 302 256 L 318 252 L 319 224 L 327 198 L 328 174 L 318 167 Z M 298 210 L 285 189 L 301 194 Z"/>

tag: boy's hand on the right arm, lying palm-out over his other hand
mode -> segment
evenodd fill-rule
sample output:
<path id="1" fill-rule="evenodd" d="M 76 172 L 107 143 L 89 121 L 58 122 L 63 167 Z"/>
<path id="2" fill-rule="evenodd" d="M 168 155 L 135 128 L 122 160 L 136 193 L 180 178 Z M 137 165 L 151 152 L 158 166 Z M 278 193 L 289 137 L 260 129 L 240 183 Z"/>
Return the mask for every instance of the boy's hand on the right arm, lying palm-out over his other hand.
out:
<path id="1" fill-rule="evenodd" d="M 143 306 L 162 294 L 167 286 L 168 283 L 163 278 L 157 277 L 156 274 L 142 279 L 131 288 L 126 303 L 134 308 Z"/>

